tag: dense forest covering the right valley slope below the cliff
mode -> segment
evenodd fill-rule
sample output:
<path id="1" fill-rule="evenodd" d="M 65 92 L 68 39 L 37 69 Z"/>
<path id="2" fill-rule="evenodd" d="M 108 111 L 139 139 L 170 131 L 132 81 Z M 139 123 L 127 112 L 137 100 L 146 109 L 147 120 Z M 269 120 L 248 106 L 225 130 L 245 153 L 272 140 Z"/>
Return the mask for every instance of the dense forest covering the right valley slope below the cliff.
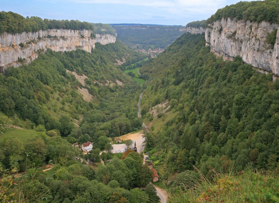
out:
<path id="1" fill-rule="evenodd" d="M 217 58 L 204 34 L 182 35 L 140 73 L 149 79 L 143 117 L 150 118 L 149 108 L 166 99 L 177 113 L 148 133 L 146 150 L 162 178 L 184 171 L 176 176 L 195 187 L 187 180 L 198 180 L 197 171 L 210 181 L 216 171 L 278 170 L 279 81 L 272 82 L 271 74 L 259 74 L 241 57 Z M 168 113 L 161 116 L 167 119 Z"/>

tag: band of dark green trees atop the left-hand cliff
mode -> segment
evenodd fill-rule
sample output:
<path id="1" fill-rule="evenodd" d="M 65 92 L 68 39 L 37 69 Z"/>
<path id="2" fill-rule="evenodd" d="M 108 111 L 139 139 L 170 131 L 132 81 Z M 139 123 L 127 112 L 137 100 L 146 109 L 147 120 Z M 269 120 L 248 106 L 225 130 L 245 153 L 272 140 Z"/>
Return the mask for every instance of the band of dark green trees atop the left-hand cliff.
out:
<path id="1" fill-rule="evenodd" d="M 37 16 L 23 16 L 11 11 L 0 12 L 0 34 L 8 32 L 11 34 L 23 32 L 36 32 L 46 29 L 91 29 L 93 25 L 79 20 L 49 20 Z"/>

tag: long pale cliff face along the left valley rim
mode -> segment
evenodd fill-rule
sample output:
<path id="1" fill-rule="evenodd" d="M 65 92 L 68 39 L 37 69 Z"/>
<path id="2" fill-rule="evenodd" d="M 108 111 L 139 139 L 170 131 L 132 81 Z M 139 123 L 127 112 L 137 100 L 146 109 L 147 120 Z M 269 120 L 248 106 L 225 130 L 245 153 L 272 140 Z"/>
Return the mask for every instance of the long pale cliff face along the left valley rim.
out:
<path id="1" fill-rule="evenodd" d="M 116 37 L 110 34 L 95 34 L 95 38 L 90 36 L 91 30 L 85 29 L 48 29 L 21 34 L 3 33 L 0 36 L 0 66 L 4 70 L 8 65 L 18 67 L 22 62 L 30 63 L 38 57 L 38 52 L 44 52 L 47 48 L 56 52 L 76 49 L 91 52 L 96 42 L 108 44 L 116 41 Z"/>

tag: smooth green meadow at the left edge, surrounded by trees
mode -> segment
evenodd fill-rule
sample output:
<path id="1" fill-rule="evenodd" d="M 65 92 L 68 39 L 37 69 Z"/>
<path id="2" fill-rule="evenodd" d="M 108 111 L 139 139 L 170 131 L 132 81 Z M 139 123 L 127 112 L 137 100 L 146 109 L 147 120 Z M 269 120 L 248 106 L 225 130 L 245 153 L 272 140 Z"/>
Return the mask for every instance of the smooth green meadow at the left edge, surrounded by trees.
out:
<path id="1" fill-rule="evenodd" d="M 25 142 L 26 140 L 33 138 L 37 135 L 38 132 L 34 130 L 25 130 L 25 129 L 9 129 L 0 136 L 0 142 L 7 138 L 19 138 L 20 141 Z"/>

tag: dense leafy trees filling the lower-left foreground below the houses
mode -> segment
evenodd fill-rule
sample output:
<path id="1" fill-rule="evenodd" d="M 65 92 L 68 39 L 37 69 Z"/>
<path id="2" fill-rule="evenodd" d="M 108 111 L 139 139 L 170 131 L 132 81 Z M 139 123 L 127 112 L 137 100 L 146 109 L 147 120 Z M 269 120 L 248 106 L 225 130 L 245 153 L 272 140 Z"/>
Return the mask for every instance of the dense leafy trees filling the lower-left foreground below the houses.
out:
<path id="1" fill-rule="evenodd" d="M 142 164 L 142 154 L 127 151 L 122 159 L 114 158 L 105 166 L 92 169 L 77 159 L 82 156 L 80 153 L 60 136 L 49 137 L 43 133 L 25 143 L 18 138 L 1 143 L 1 201 L 156 202 L 155 188 L 148 184 L 150 170 Z M 50 172 L 38 168 L 45 162 L 55 162 Z M 24 173 L 19 174 L 20 169 Z M 145 185 L 145 191 L 137 188 Z"/>

